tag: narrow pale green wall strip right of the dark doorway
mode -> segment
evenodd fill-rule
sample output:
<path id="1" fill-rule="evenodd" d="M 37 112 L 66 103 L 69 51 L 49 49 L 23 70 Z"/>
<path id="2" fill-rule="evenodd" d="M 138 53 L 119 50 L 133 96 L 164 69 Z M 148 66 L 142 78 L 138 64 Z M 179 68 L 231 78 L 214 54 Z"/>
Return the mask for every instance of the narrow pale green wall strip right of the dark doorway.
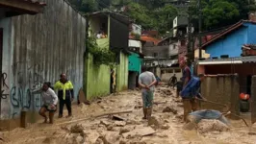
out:
<path id="1" fill-rule="evenodd" d="M 116 90 L 122 91 L 128 89 L 128 56 L 120 53 L 120 63 L 117 65 L 117 85 Z"/>

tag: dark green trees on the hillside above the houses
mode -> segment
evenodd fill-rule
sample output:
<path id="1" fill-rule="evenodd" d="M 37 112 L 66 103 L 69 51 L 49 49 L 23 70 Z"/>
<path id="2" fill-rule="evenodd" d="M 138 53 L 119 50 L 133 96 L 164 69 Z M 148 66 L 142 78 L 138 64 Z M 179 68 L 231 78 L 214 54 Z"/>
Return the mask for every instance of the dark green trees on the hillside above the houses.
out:
<path id="1" fill-rule="evenodd" d="M 188 15 L 188 8 L 176 8 L 171 0 L 69 0 L 80 12 L 120 10 L 127 6 L 123 14 L 135 19 L 145 30 L 158 30 L 165 35 L 172 28 L 172 20 L 177 15 Z M 248 12 L 254 12 L 253 0 L 201 0 L 203 29 L 210 30 L 228 26 L 241 19 L 247 19 Z M 190 3 L 192 19 L 198 20 L 198 0 Z"/>

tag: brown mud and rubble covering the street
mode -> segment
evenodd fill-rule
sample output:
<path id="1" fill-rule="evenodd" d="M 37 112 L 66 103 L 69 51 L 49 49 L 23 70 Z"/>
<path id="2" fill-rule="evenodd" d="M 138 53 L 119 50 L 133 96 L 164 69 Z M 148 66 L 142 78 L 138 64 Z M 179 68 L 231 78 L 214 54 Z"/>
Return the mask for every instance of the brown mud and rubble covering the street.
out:
<path id="1" fill-rule="evenodd" d="M 0 143 L 12 144 L 253 144 L 243 121 L 232 121 L 223 132 L 185 131 L 182 103 L 175 91 L 158 87 L 154 99 L 153 118 L 142 120 L 141 92 L 120 92 L 98 99 L 90 105 L 73 106 L 73 117 L 57 119 L 54 125 L 37 124 L 0 133 Z M 102 113 L 132 110 L 129 113 L 93 117 Z M 66 111 L 64 111 L 66 113 Z M 57 115 L 56 115 L 57 116 Z M 117 116 L 119 119 L 116 119 Z M 80 121 L 79 121 L 80 120 Z M 67 123 L 66 123 L 67 122 Z M 68 123 L 70 122 L 70 123 Z M 202 128 L 211 124 L 202 122 Z M 212 125 L 216 127 L 216 125 Z M 209 129 L 209 128 L 208 128 Z M 213 129 L 214 130 L 214 129 Z"/>

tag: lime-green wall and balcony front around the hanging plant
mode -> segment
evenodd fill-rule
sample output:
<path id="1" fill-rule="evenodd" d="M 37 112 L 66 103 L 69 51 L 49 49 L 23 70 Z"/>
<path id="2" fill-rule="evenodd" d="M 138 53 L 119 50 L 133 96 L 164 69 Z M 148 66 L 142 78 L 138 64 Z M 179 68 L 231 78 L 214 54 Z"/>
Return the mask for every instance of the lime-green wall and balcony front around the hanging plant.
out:
<path id="1" fill-rule="evenodd" d="M 97 39 L 102 48 L 109 48 L 109 38 Z M 93 65 L 93 56 L 88 54 L 86 60 L 86 95 L 87 99 L 110 94 L 110 67 Z"/>

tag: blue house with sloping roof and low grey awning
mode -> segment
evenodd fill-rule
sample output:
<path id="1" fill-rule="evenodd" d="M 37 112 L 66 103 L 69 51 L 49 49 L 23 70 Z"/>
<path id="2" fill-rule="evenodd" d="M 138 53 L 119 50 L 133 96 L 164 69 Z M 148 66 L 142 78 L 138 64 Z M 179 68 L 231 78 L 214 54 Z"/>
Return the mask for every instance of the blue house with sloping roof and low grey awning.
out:
<path id="1" fill-rule="evenodd" d="M 252 77 L 256 74 L 256 57 L 244 53 L 243 49 L 253 49 L 256 43 L 256 23 L 240 21 L 230 26 L 202 45 L 210 59 L 199 60 L 198 73 L 208 75 L 237 74 L 240 93 L 251 94 Z"/>

